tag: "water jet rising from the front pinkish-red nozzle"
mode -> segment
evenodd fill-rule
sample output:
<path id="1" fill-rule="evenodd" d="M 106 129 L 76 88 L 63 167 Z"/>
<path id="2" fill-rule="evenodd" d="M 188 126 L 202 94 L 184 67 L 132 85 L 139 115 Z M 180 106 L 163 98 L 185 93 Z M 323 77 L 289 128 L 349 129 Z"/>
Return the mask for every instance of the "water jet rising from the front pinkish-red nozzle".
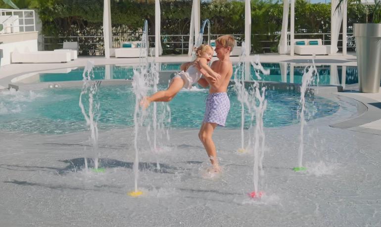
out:
<path id="1" fill-rule="evenodd" d="M 249 196 L 252 198 L 258 198 L 263 195 L 262 191 L 258 190 L 258 181 L 259 175 L 263 176 L 263 157 L 265 151 L 265 132 L 263 127 L 263 114 L 265 113 L 267 107 L 267 100 L 265 100 L 265 87 L 262 87 L 261 91 L 259 90 L 259 84 L 254 83 L 250 104 L 255 113 L 255 128 L 254 128 L 254 165 L 253 165 L 253 182 L 254 182 L 254 191 L 249 193 Z"/>

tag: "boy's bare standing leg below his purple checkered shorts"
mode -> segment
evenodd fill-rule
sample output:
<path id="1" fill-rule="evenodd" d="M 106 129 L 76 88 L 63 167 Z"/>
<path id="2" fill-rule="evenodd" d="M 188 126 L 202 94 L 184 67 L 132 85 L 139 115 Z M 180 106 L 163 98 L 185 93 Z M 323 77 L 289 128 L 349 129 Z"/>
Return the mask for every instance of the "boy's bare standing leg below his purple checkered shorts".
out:
<path id="1" fill-rule="evenodd" d="M 220 171 L 220 167 L 218 165 L 217 160 L 217 152 L 216 146 L 214 145 L 212 136 L 214 129 L 217 127 L 217 123 L 204 122 L 200 128 L 200 132 L 198 133 L 198 137 L 200 138 L 206 153 L 209 156 L 210 162 L 212 163 L 214 169 L 216 171 Z"/>

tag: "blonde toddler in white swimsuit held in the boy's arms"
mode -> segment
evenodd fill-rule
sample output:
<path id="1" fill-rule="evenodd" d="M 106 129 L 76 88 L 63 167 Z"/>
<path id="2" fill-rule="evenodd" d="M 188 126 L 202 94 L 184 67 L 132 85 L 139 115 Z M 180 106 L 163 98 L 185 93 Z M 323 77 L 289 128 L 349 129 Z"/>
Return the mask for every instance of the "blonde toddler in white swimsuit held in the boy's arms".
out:
<path id="1" fill-rule="evenodd" d="M 190 89 L 200 78 L 201 73 L 193 66 L 194 62 L 200 62 L 207 65 L 212 59 L 214 50 L 211 46 L 202 44 L 196 49 L 197 58 L 192 62 L 183 63 L 180 66 L 182 72 L 174 76 L 167 90 L 158 91 L 155 94 L 145 97 L 140 105 L 143 109 L 146 109 L 151 102 L 169 102 L 176 96 L 176 94 L 184 87 Z M 209 72 L 208 80 L 216 81 L 221 76 L 213 71 Z"/>

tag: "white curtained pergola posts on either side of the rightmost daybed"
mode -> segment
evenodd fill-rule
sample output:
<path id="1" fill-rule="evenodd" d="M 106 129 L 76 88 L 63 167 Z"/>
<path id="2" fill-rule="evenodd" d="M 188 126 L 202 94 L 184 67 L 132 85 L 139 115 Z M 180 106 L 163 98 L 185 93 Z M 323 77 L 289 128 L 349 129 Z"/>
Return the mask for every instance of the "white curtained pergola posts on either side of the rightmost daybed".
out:
<path id="1" fill-rule="evenodd" d="M 347 2 L 344 1 L 340 10 L 336 10 L 338 0 L 332 0 L 331 2 L 331 52 L 335 54 L 337 52 L 337 41 L 340 32 L 342 22 L 342 54 L 347 54 Z M 289 6 L 291 4 L 291 7 Z M 288 27 L 288 10 L 290 12 L 290 45 L 287 44 L 287 27 Z M 295 0 L 283 0 L 283 21 L 281 40 L 278 45 L 278 52 L 280 54 L 294 55 L 294 33 L 295 33 Z"/>

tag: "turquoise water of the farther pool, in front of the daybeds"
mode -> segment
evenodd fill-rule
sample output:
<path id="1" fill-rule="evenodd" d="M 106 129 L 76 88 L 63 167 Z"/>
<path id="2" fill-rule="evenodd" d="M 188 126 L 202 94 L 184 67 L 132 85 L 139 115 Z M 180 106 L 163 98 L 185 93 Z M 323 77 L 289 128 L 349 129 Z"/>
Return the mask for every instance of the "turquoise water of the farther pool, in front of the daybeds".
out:
<path id="1" fill-rule="evenodd" d="M 281 64 L 286 64 L 286 72 L 281 71 Z M 270 70 L 270 75 L 260 74 L 262 77 L 260 80 L 265 81 L 275 81 L 275 82 L 287 82 L 287 83 L 301 83 L 304 66 L 294 67 L 294 76 L 290 76 L 290 67 L 288 63 L 262 63 L 265 69 Z M 160 63 L 161 71 L 180 71 L 180 63 Z M 235 67 L 234 67 L 235 68 Z M 342 83 L 341 71 L 342 67 L 338 66 L 333 70 L 334 75 L 331 72 L 330 65 L 317 66 L 319 72 L 319 85 L 338 85 Z M 95 79 L 105 79 L 106 78 L 106 67 L 105 66 L 95 66 L 94 74 Z M 40 82 L 53 82 L 53 81 L 71 81 L 71 80 L 82 80 L 82 73 L 84 68 L 77 68 L 71 70 L 69 73 L 41 73 Z M 282 75 L 284 74 L 284 75 Z M 109 79 L 132 79 L 134 76 L 133 66 L 118 66 L 110 65 L 110 78 Z M 251 75 L 254 74 L 254 69 L 251 67 Z M 333 76 L 331 76 L 333 75 Z M 345 73 L 345 84 L 353 84 L 358 82 L 357 67 L 346 67 Z M 256 76 L 252 76 L 254 79 L 258 80 Z M 317 84 L 317 79 L 314 81 Z"/>

